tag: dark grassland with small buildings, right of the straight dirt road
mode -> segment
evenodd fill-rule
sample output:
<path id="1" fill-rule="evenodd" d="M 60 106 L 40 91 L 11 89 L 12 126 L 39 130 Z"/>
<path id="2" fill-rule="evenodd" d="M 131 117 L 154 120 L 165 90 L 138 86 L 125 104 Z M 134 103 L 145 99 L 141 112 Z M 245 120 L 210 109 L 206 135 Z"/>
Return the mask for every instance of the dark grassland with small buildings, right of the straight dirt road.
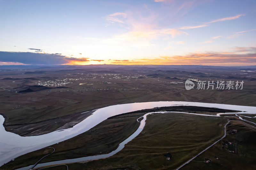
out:
<path id="1" fill-rule="evenodd" d="M 205 151 L 194 161 L 183 166 L 180 170 L 190 169 L 232 169 L 232 170 L 249 170 L 256 169 L 255 162 L 255 143 L 256 128 L 241 121 L 232 120 L 227 130 L 236 129 L 234 134 L 228 134 L 223 140 Z M 235 146 L 235 153 L 227 151 L 225 141 L 231 142 Z M 214 159 L 218 156 L 219 159 Z M 211 159 L 211 163 L 195 162 L 204 161 L 204 158 Z"/>

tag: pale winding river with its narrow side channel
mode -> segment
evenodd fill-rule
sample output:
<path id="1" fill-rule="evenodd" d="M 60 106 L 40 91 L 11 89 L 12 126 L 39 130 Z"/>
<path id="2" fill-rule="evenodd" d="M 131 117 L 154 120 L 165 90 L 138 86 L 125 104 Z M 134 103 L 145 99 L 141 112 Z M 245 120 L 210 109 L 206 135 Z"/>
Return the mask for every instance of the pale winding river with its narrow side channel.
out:
<path id="1" fill-rule="evenodd" d="M 215 103 L 199 103 L 199 102 L 184 102 L 184 101 L 157 101 L 157 102 L 142 102 L 142 103 L 128 103 L 128 104 L 120 104 L 113 105 L 108 107 L 103 107 L 97 109 L 92 115 L 87 117 L 84 121 L 76 124 L 73 128 L 64 129 L 54 131 L 48 134 L 40 135 L 40 136 L 31 136 L 31 137 L 21 137 L 12 132 L 7 132 L 4 129 L 4 126 L 0 126 L 0 165 L 9 162 L 11 159 L 14 159 L 22 154 L 26 154 L 28 152 L 36 151 L 38 149 L 47 147 L 52 144 L 56 144 L 58 142 L 67 140 L 69 138 L 75 137 L 92 127 L 96 126 L 100 122 L 106 120 L 108 117 L 113 115 L 119 115 L 126 112 L 132 112 L 141 109 L 148 109 L 153 107 L 164 107 L 164 106 L 177 106 L 177 105 L 185 105 L 185 106 L 201 106 L 201 107 L 216 107 L 221 109 L 232 109 L 232 110 L 240 110 L 244 111 L 246 114 L 256 114 L 256 107 L 251 106 L 238 106 L 238 105 L 225 105 L 225 104 L 215 104 Z M 229 114 L 242 114 L 240 113 L 229 113 Z M 181 112 L 187 114 L 185 112 Z M 150 113 L 148 113 L 150 114 Z M 148 115 L 146 114 L 146 115 Z M 191 114 L 191 113 L 189 113 Z M 220 113 L 221 114 L 221 113 Z M 204 115 L 204 116 L 220 116 L 217 115 Z M 227 114 L 227 113 L 225 113 Z M 124 142 L 122 142 L 117 150 L 110 152 L 105 155 L 97 155 L 92 157 L 84 157 L 77 159 L 66 159 L 62 162 L 55 161 L 51 162 L 51 164 L 59 163 L 68 163 L 68 162 L 76 162 L 76 161 L 84 161 L 90 159 L 100 159 L 106 158 L 108 156 L 114 155 L 124 148 L 124 144 L 132 140 L 132 138 L 136 137 L 145 125 L 146 115 L 144 115 L 143 120 L 141 121 L 140 127 L 137 131 L 132 134 L 131 137 L 127 138 Z M 202 115 L 202 114 L 196 114 Z M 0 115 L 0 123 L 3 124 L 4 117 Z M 96 157 L 96 158 L 95 158 Z M 81 159 L 81 160 L 80 160 Z M 46 163 L 47 164 L 47 163 Z M 44 166 L 44 164 L 38 164 L 36 167 Z M 24 168 L 20 168 L 24 169 Z M 25 169 L 28 169 L 25 167 Z"/>

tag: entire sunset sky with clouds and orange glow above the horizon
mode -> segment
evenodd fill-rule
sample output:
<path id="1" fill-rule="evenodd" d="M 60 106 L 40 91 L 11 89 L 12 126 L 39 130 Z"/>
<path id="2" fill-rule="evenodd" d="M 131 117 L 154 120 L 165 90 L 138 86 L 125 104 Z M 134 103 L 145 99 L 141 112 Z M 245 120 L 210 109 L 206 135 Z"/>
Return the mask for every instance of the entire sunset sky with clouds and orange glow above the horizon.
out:
<path id="1" fill-rule="evenodd" d="M 255 0 L 0 0 L 0 65 L 256 65 Z"/>

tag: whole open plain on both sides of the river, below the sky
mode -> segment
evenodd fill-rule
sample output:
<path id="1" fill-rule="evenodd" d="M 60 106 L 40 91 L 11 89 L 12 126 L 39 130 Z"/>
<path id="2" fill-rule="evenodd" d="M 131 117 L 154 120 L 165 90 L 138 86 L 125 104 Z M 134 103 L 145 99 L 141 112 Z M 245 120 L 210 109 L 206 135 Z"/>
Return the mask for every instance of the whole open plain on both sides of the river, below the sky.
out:
<path id="1" fill-rule="evenodd" d="M 72 128 L 90 116 L 95 109 L 116 104 L 176 100 L 256 105 L 256 67 L 253 66 L 89 65 L 9 66 L 8 69 L 2 66 L 0 69 L 1 115 L 5 118 L 4 128 L 21 136 L 36 136 Z M 188 79 L 195 83 L 194 89 L 185 89 L 185 81 Z M 215 87 L 217 81 L 243 81 L 244 84 L 242 89 L 241 87 L 240 89 L 207 89 L 207 84 L 205 89 L 196 89 L 198 81 L 214 81 Z M 154 108 L 153 111 L 159 111 L 157 109 Z M 161 109 L 160 111 L 169 111 L 166 108 Z M 51 147 L 56 151 L 42 159 L 40 163 L 111 152 L 138 128 L 137 118 L 147 111 L 114 116 L 77 137 L 54 144 Z M 170 111 L 209 115 L 238 112 L 232 111 L 232 108 L 225 111 L 216 108 L 178 106 L 172 107 Z M 246 116 L 246 113 L 244 115 Z M 125 148 L 116 155 L 91 162 L 68 164 L 68 167 L 69 169 L 175 169 L 217 141 L 223 135 L 223 127 L 228 120 L 234 119 L 231 125 L 234 126 L 233 129 L 239 129 L 236 126 L 242 123 L 241 120 L 238 120 L 235 114 L 229 116 L 231 117 L 212 118 L 181 113 L 148 115 L 142 133 L 126 144 Z M 255 122 L 255 118 L 243 118 Z M 237 134 L 240 134 L 240 138 L 244 135 L 251 137 L 255 133 L 253 127 L 246 131 L 249 126 L 253 124 L 244 124 L 243 127 L 239 125 L 241 130 L 237 131 Z M 237 134 L 230 134 L 223 141 L 235 142 Z M 245 141 L 250 145 L 253 140 L 255 139 Z M 221 145 L 221 142 L 217 145 Z M 246 148 L 242 144 L 239 147 Z M 225 148 L 220 151 L 216 155 L 221 158 L 226 154 Z M 0 169 L 12 170 L 32 165 L 50 152 L 51 149 L 42 149 L 28 153 L 1 166 Z M 172 154 L 171 161 L 164 158 L 166 152 Z M 253 155 L 251 152 L 252 150 L 248 150 L 249 155 Z M 209 153 L 209 158 L 212 158 L 211 154 Z M 240 152 L 235 154 L 237 159 L 242 156 Z M 197 159 L 199 161 L 199 158 L 195 161 Z M 234 161 L 240 162 L 237 167 L 242 167 L 245 158 L 251 160 L 249 156 L 249 158 L 241 158 L 241 161 L 225 159 L 220 163 L 218 162 L 220 159 L 217 161 L 218 165 L 212 168 L 227 167 L 223 166 L 224 164 L 232 166 Z M 200 169 L 208 165 L 210 164 L 205 162 L 190 162 L 182 169 L 189 169 L 192 166 Z M 255 167 L 252 162 L 250 165 Z M 58 168 L 66 167 L 52 167 L 52 169 Z"/>

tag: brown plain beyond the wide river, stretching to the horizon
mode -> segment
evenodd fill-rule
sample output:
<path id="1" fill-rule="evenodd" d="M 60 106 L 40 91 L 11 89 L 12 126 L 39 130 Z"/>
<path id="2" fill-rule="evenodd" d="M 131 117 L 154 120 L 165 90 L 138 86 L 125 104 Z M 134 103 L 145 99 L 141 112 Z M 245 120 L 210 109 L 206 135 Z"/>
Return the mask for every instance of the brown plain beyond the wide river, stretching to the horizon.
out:
<path id="1" fill-rule="evenodd" d="M 25 136 L 40 135 L 56 129 L 64 129 L 66 125 L 63 122 L 54 120 L 61 116 L 67 116 L 69 126 L 72 127 L 77 123 L 76 120 L 72 120 L 74 116 L 72 114 L 121 103 L 173 100 L 256 105 L 256 81 L 253 79 L 255 74 L 247 72 L 246 76 L 250 75 L 251 79 L 244 78 L 245 73 L 239 69 L 226 69 L 220 72 L 214 68 L 208 70 L 193 68 L 194 72 L 188 72 L 189 68 L 182 67 L 179 69 L 186 71 L 162 71 L 159 68 L 156 68 L 156 71 L 152 68 L 128 70 L 126 67 L 110 69 L 107 66 L 91 68 L 91 70 L 98 70 L 98 72 L 94 71 L 96 73 L 86 71 L 86 67 L 84 70 L 51 69 L 2 71 L 0 101 L 3 107 L 0 112 L 6 117 L 4 126 L 7 131 Z M 173 68 L 164 69 L 172 70 Z M 229 77 L 234 81 L 243 80 L 243 89 L 188 91 L 184 88 L 184 82 L 188 78 L 206 81 L 225 78 L 232 80 Z M 47 88 L 31 87 L 33 85 L 44 85 Z M 16 93 L 28 88 L 34 92 Z M 69 115 L 71 117 L 68 118 Z M 86 116 L 79 117 L 79 120 L 84 118 Z M 25 123 L 24 120 L 26 120 Z M 24 129 L 35 128 L 35 124 L 42 130 L 37 128 L 36 132 L 22 133 Z"/>

